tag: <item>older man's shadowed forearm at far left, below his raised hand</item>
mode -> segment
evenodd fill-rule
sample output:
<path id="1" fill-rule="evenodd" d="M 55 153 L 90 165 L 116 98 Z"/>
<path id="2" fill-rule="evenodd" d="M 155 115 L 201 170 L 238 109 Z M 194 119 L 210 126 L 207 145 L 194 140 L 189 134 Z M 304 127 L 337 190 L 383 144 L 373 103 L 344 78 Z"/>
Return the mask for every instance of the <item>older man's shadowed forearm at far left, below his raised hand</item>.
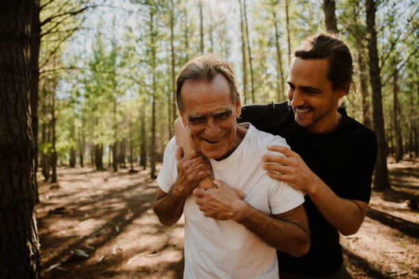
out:
<path id="1" fill-rule="evenodd" d="M 160 223 L 165 226 L 176 224 L 183 213 L 185 200 L 186 196 L 174 194 L 173 188 L 166 195 L 157 196 L 153 204 L 153 210 L 159 217 Z"/>

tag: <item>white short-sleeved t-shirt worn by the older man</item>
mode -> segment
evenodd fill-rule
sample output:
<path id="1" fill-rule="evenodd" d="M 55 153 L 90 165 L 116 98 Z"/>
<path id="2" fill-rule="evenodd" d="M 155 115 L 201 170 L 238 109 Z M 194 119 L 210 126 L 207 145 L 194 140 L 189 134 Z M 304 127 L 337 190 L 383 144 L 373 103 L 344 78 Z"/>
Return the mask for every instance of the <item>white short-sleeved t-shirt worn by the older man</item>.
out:
<path id="1" fill-rule="evenodd" d="M 233 153 L 222 161 L 210 159 L 214 178 L 244 193 L 244 201 L 266 215 L 279 214 L 304 202 L 301 191 L 275 181 L 262 168 L 266 147 L 288 146 L 283 137 L 249 130 Z M 177 178 L 176 142 L 171 139 L 164 151 L 157 183 L 166 193 Z M 188 196 L 185 215 L 185 270 L 183 278 L 279 278 L 275 248 L 259 239 L 251 230 L 232 220 L 205 217 Z"/>

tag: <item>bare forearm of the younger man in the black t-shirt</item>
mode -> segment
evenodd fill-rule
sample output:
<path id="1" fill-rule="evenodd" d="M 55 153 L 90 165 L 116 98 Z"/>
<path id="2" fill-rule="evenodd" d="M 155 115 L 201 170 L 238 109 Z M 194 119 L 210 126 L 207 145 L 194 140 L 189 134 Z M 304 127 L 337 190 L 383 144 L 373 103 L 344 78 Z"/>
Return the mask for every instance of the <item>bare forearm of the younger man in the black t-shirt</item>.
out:
<path id="1" fill-rule="evenodd" d="M 336 196 L 320 178 L 314 181 L 307 194 L 325 220 L 339 230 L 342 235 L 357 233 L 364 221 L 368 206 L 366 202 Z"/>

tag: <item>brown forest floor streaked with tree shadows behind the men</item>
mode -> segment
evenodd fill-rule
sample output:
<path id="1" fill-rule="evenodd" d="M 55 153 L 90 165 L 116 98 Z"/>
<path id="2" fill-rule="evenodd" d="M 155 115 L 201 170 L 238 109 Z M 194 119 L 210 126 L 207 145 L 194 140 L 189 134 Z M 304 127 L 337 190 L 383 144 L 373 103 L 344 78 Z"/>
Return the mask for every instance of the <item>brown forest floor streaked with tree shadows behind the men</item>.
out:
<path id="1" fill-rule="evenodd" d="M 419 161 L 389 170 L 392 189 L 372 191 L 359 232 L 341 237 L 353 278 L 419 278 Z M 43 278 L 182 278 L 183 217 L 159 223 L 149 170 L 61 167 L 58 183 L 38 181 Z"/>

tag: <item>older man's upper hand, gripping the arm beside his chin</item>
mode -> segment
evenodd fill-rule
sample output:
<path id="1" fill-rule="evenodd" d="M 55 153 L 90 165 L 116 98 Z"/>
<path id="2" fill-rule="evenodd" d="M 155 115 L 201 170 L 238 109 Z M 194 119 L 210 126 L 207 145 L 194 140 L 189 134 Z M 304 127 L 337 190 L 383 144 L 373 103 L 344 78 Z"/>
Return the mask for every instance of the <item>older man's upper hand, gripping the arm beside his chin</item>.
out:
<path id="1" fill-rule="evenodd" d="M 172 188 L 175 196 L 188 196 L 205 176 L 211 174 L 211 164 L 201 151 L 192 150 L 183 157 L 180 146 L 176 148 L 177 179 Z"/>

